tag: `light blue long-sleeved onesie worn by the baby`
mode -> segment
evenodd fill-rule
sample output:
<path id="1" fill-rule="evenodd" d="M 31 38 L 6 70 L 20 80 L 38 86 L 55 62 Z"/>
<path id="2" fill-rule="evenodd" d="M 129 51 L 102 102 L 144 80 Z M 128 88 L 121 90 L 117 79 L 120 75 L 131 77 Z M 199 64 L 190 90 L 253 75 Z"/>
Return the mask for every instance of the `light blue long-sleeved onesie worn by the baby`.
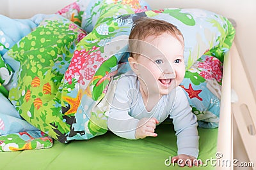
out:
<path id="1" fill-rule="evenodd" d="M 141 118 L 156 118 L 159 123 L 168 116 L 173 119 L 177 136 L 178 155 L 198 157 L 198 132 L 196 116 L 191 112 L 186 94 L 176 87 L 164 95 L 151 111 L 147 111 L 140 93 L 140 81 L 132 71 L 117 81 L 115 95 L 109 111 L 108 128 L 116 135 L 135 139 Z"/>

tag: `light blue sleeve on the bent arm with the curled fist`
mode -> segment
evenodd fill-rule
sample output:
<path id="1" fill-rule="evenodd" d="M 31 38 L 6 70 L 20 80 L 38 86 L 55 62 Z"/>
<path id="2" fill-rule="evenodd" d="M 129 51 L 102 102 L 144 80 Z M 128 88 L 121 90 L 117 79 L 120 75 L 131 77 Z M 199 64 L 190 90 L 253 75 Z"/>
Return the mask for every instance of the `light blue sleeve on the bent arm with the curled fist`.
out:
<path id="1" fill-rule="evenodd" d="M 129 115 L 136 89 L 131 78 L 120 78 L 117 81 L 115 95 L 108 117 L 108 129 L 117 136 L 136 139 L 135 132 L 139 120 Z"/>

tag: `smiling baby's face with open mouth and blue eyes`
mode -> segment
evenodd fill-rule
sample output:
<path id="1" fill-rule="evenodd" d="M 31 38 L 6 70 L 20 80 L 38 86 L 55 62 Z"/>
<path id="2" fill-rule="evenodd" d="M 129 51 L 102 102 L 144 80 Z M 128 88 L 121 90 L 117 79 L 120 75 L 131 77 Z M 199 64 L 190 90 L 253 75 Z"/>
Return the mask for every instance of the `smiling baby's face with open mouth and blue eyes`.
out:
<path id="1" fill-rule="evenodd" d="M 136 58 L 136 74 L 147 86 L 148 92 L 168 94 L 184 78 L 184 46 L 168 33 L 158 37 L 149 36 L 144 41 L 151 45 L 142 46 L 142 55 Z"/>

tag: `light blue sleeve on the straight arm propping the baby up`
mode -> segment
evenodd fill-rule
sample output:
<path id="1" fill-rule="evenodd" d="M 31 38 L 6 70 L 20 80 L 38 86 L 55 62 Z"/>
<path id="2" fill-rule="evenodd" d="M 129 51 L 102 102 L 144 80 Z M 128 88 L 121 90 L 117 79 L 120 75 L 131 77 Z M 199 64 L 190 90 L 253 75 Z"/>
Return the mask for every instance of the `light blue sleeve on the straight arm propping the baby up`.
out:
<path id="1" fill-rule="evenodd" d="M 178 155 L 186 154 L 197 158 L 199 136 L 196 115 L 192 113 L 186 94 L 180 87 L 177 88 L 170 118 L 173 119 L 177 136 Z"/>

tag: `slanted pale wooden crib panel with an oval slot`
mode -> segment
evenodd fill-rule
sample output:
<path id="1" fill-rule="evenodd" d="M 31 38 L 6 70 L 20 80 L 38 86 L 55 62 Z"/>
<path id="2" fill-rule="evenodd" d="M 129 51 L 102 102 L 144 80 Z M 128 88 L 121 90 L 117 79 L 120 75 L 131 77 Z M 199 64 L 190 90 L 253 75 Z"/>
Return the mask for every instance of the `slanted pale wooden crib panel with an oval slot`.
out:
<path id="1" fill-rule="evenodd" d="M 250 81 L 243 67 L 243 60 L 232 46 L 231 55 L 231 87 L 233 91 L 231 111 L 237 124 L 239 135 L 246 150 L 250 169 L 256 169 L 256 98 Z M 226 122 L 227 123 L 227 122 Z M 237 140 L 237 139 L 234 139 Z M 234 141 L 236 142 L 236 141 Z"/>

